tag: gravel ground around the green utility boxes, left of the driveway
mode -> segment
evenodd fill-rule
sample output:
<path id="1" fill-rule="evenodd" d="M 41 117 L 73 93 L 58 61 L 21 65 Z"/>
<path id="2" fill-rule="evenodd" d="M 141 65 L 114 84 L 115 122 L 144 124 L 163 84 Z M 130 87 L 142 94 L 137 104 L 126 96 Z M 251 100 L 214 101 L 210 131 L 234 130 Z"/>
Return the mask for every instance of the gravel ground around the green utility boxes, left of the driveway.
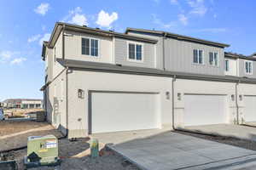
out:
<path id="1" fill-rule="evenodd" d="M 62 157 L 61 165 L 56 167 L 37 167 L 30 168 L 31 170 L 139 170 L 126 161 L 122 156 L 114 153 L 111 150 L 103 149 L 102 156 L 94 159 L 90 156 L 82 158 L 70 158 L 80 152 L 87 150 L 90 147 L 88 139 L 78 139 L 71 142 L 67 139 L 59 140 L 59 156 Z M 12 151 L 7 153 L 10 159 L 18 161 L 20 170 L 25 169 L 23 165 L 23 157 L 26 156 L 25 150 Z"/>

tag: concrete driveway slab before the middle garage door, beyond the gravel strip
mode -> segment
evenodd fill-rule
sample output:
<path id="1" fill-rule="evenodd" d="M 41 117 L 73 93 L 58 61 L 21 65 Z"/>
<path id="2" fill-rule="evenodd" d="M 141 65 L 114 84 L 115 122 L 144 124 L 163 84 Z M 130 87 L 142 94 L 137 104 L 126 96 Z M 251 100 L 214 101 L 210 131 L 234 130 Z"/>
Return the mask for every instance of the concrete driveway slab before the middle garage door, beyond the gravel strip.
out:
<path id="1" fill-rule="evenodd" d="M 185 127 L 184 129 L 199 132 L 209 133 L 225 137 L 234 137 L 238 139 L 247 139 L 256 141 L 256 127 L 248 127 L 242 125 L 232 124 L 217 124 L 217 125 L 204 125 Z"/>

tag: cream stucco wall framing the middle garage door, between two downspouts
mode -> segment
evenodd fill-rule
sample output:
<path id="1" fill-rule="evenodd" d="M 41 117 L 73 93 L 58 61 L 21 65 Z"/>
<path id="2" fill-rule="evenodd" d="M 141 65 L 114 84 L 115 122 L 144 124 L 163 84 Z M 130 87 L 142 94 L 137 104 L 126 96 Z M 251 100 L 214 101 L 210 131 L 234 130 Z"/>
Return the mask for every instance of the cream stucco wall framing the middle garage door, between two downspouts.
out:
<path id="1" fill-rule="evenodd" d="M 182 94 L 181 100 L 177 99 L 177 93 Z M 236 95 L 236 83 L 211 82 L 177 79 L 174 82 L 174 120 L 176 127 L 183 127 L 184 94 L 221 94 L 227 97 L 227 120 L 234 123 L 236 118 L 236 99 L 231 100 L 231 95 Z M 200 119 L 200 117 L 198 117 Z"/>

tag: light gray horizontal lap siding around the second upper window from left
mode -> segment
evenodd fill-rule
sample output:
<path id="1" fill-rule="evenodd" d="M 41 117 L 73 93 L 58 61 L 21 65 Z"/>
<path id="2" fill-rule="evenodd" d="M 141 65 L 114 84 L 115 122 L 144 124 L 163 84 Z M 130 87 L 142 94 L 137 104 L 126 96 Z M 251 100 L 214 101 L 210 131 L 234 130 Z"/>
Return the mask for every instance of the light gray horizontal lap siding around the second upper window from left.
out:
<path id="1" fill-rule="evenodd" d="M 120 39 L 120 38 L 115 39 L 115 42 L 114 42 L 115 64 L 155 68 L 154 44 L 147 43 L 147 42 L 139 42 L 143 44 L 143 62 L 135 62 L 135 61 L 129 61 L 127 59 L 128 58 L 127 56 L 128 42 L 133 42 L 133 41 Z"/>

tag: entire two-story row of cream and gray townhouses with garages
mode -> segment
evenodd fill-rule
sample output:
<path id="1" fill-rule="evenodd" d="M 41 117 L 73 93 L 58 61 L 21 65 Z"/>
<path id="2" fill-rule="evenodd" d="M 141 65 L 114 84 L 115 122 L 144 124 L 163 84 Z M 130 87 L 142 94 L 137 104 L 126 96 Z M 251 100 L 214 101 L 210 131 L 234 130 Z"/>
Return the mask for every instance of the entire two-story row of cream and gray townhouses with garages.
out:
<path id="1" fill-rule="evenodd" d="M 166 31 L 56 23 L 42 52 L 47 119 L 68 138 L 256 121 L 254 58 L 244 58 L 253 61 L 245 62 L 245 77 L 241 57 L 224 53 L 228 46 Z"/>

